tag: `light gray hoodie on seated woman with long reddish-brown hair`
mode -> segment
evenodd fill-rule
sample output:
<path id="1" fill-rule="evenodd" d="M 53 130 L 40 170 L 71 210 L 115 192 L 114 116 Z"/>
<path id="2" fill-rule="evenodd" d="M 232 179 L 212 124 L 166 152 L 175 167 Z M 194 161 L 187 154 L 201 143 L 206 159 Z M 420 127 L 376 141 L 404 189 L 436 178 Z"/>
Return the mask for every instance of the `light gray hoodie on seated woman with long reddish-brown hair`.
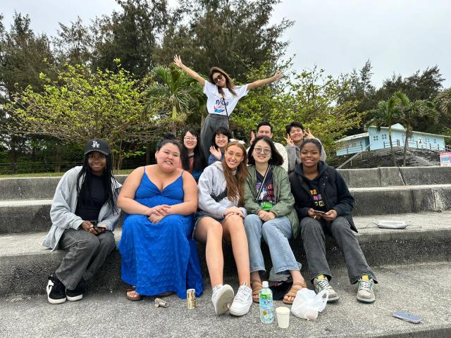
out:
<path id="1" fill-rule="evenodd" d="M 199 211 L 210 214 L 214 218 L 223 218 L 224 211 L 231 206 L 237 206 L 237 201 L 229 201 L 224 197 L 216 202 L 211 194 L 220 195 L 226 190 L 226 177 L 224 177 L 223 163 L 216 161 L 204 169 L 204 173 L 199 177 Z M 243 215 L 247 215 L 245 208 L 240 208 Z"/>

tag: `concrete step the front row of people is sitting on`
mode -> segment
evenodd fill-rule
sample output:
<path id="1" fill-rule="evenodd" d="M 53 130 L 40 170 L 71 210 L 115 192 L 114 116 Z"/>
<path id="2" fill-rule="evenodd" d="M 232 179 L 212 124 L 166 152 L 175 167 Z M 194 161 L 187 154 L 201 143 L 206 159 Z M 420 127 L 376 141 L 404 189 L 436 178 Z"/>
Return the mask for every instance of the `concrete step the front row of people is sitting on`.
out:
<path id="1" fill-rule="evenodd" d="M 359 228 L 357 239 L 369 265 L 410 264 L 430 261 L 450 261 L 451 212 L 404 215 L 380 215 L 356 217 Z M 405 230 L 379 229 L 379 219 L 404 220 L 409 224 Z M 0 236 L 0 295 L 37 294 L 44 292 L 47 277 L 61 263 L 65 251 L 50 251 L 41 246 L 45 232 L 8 234 Z M 116 240 L 121 230 L 115 231 Z M 302 240 L 291 243 L 297 260 L 303 264 L 302 273 L 308 268 L 302 249 Z M 328 240 L 328 261 L 331 266 L 344 266 L 338 248 Z M 205 246 L 198 246 L 204 276 L 208 276 L 205 263 Z M 267 270 L 271 267 L 268 249 L 264 246 Z M 224 275 L 236 275 L 231 246 L 224 244 Z M 377 273 L 377 272 L 376 272 Z M 121 257 L 114 251 L 96 277 L 89 283 L 94 290 L 123 289 L 120 279 Z"/>

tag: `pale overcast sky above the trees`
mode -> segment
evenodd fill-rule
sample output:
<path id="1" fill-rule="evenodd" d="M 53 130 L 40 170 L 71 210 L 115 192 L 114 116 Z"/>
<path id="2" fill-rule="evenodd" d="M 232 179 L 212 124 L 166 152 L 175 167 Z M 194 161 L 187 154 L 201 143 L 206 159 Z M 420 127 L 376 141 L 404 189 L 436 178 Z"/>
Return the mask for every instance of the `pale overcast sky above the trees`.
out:
<path id="1" fill-rule="evenodd" d="M 79 15 L 89 23 L 119 8 L 114 0 L 0 0 L 6 27 L 18 11 L 30 15 L 35 32 L 48 35 L 56 35 L 58 22 Z M 380 87 L 393 73 L 406 77 L 438 65 L 444 86 L 451 87 L 450 0 L 285 0 L 272 22 L 281 18 L 295 20 L 283 39 L 291 42 L 286 55 L 296 54 L 297 70 L 318 65 L 336 77 L 369 59 Z"/>

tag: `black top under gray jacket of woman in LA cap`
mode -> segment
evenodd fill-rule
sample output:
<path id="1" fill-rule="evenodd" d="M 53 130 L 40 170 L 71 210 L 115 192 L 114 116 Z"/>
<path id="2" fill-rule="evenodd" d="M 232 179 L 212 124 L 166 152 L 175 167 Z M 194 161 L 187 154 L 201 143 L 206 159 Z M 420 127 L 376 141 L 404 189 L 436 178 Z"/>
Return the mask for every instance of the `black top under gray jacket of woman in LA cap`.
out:
<path id="1" fill-rule="evenodd" d="M 86 191 L 80 192 L 75 215 L 82 220 L 97 221 L 100 209 L 106 202 L 104 176 L 91 175 L 89 187 L 91 187 L 91 196 Z"/>

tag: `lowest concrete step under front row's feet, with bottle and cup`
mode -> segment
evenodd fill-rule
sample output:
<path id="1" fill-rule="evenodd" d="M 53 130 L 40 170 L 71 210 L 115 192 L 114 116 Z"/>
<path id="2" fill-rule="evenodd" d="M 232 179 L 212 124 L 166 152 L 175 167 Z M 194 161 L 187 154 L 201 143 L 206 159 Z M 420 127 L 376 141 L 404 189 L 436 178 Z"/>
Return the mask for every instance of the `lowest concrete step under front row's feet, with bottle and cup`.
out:
<path id="1" fill-rule="evenodd" d="M 448 261 L 415 265 L 379 265 L 376 302 L 359 303 L 355 287 L 344 268 L 334 269 L 331 284 L 340 295 L 317 320 L 290 315 L 290 327 L 259 320 L 259 306 L 252 304 L 240 318 L 217 316 L 211 304 L 211 287 L 188 310 L 186 301 L 166 297 L 168 308 L 155 308 L 153 299 L 132 302 L 123 291 L 89 292 L 81 301 L 51 305 L 44 295 L 0 297 L 2 337 L 451 337 L 451 296 Z M 237 290 L 236 277 L 226 280 Z M 311 285 L 309 285 L 311 288 Z M 274 307 L 286 306 L 275 301 Z M 290 306 L 289 306 L 290 307 Z M 419 315 L 420 324 L 393 318 L 395 311 Z M 119 315 L 121 313 L 121 315 Z M 93 317 L 95 318 L 93 320 Z M 13 323 L 13 325 L 11 325 Z"/>

